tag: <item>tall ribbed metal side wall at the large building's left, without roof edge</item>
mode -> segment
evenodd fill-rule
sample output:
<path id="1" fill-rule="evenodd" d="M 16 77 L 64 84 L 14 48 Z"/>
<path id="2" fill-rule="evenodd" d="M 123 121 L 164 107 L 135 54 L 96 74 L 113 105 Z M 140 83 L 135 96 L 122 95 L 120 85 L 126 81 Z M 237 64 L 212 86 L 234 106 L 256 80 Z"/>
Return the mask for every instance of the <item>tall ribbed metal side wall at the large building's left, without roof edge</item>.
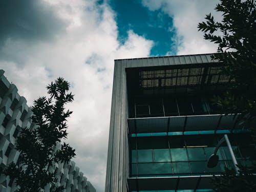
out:
<path id="1" fill-rule="evenodd" d="M 112 91 L 112 107 L 109 133 L 108 162 L 106 167 L 105 191 L 127 191 L 129 176 L 129 146 L 127 140 L 127 60 L 116 60 Z"/>

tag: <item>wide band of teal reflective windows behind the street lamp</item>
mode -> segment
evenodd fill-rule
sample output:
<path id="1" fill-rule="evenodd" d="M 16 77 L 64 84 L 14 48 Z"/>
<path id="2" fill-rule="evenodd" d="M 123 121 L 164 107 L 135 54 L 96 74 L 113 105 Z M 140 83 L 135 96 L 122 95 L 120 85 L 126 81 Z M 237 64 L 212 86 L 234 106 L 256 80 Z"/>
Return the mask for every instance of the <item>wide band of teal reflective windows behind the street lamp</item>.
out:
<path id="1" fill-rule="evenodd" d="M 207 160 L 214 153 L 223 135 L 172 136 L 134 138 L 131 150 L 131 177 L 204 175 L 224 172 L 233 163 L 227 146 L 218 151 L 219 163 L 215 168 L 207 167 Z M 248 139 L 248 138 L 247 138 Z M 248 147 L 243 138 L 231 137 L 231 145 L 239 163 L 250 164 L 256 159 L 254 146 Z"/>

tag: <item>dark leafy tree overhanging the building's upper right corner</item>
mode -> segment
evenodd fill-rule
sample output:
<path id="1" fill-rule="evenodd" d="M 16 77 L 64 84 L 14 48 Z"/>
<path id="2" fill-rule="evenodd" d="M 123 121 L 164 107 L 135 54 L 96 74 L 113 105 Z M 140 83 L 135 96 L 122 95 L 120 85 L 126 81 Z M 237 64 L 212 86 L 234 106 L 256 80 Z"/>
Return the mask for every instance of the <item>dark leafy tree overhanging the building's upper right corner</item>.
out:
<path id="1" fill-rule="evenodd" d="M 241 117 L 255 121 L 256 117 L 256 9 L 254 0 L 221 0 L 215 10 L 223 19 L 216 22 L 211 14 L 199 23 L 204 39 L 218 44 L 212 58 L 224 63 L 222 74 L 231 77 L 229 91 L 216 102 L 226 113 L 242 113 Z"/>

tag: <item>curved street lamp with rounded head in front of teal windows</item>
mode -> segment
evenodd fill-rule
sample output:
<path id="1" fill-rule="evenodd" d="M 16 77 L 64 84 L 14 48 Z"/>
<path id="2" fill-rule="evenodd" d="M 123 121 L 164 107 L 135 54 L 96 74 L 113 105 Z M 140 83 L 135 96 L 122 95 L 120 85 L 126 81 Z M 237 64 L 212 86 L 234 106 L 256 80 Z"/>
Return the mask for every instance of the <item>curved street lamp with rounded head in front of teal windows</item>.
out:
<path id="1" fill-rule="evenodd" d="M 239 174 L 239 168 L 237 167 L 237 160 L 236 160 L 236 157 L 234 157 L 234 152 L 232 150 L 232 147 L 230 145 L 230 142 L 229 142 L 229 139 L 227 137 L 227 134 L 224 135 L 224 137 L 222 137 L 222 139 L 219 141 L 219 143 L 217 144 L 216 148 L 215 148 L 215 151 L 214 151 L 214 154 L 212 154 L 207 162 L 207 167 L 209 168 L 213 168 L 213 167 L 216 167 L 216 165 L 218 164 L 218 161 L 219 161 L 219 156 L 217 155 L 217 152 L 218 152 L 218 149 L 219 147 L 221 146 L 221 144 L 226 141 L 227 143 L 227 146 L 228 146 L 228 150 L 231 154 L 231 158 L 232 158 L 232 161 L 233 161 L 233 164 L 234 164 L 234 169 L 236 170 L 236 173 Z"/>

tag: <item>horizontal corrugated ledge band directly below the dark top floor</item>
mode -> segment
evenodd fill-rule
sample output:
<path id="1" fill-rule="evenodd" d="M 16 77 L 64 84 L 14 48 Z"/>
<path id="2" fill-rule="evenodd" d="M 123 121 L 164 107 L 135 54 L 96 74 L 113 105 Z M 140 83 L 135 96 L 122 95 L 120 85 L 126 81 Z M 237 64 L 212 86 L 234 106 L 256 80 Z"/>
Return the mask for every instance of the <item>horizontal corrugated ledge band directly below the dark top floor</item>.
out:
<path id="1" fill-rule="evenodd" d="M 238 115 L 191 115 L 172 117 L 129 118 L 129 133 L 163 133 L 243 129 Z"/>

